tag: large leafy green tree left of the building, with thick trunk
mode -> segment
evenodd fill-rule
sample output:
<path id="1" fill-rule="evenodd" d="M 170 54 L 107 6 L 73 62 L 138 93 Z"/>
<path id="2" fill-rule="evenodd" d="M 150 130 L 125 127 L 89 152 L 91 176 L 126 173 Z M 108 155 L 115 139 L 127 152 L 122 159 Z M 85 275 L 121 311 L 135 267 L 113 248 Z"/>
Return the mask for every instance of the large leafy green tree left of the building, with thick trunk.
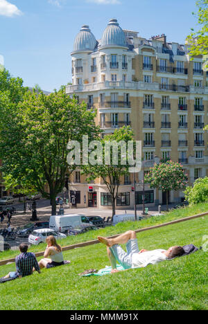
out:
<path id="1" fill-rule="evenodd" d="M 85 103 L 78 105 L 63 88 L 49 96 L 27 91 L 15 109 L 7 98 L 0 98 L 0 114 L 3 172 L 17 177 L 19 185 L 21 177 L 26 177 L 28 184 L 51 200 L 52 215 L 56 215 L 55 197 L 74 168 L 69 170 L 67 164 L 67 143 L 79 141 L 83 134 L 89 138 L 99 134 L 95 114 L 87 111 Z"/>

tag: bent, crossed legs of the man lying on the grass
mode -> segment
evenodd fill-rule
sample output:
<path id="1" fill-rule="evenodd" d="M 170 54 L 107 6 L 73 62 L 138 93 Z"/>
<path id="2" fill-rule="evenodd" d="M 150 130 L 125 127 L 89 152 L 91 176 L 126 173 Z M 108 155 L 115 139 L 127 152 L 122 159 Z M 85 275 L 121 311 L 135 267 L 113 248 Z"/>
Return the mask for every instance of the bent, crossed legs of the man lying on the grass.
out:
<path id="1" fill-rule="evenodd" d="M 112 266 L 112 272 L 116 270 L 116 261 L 125 269 L 131 268 L 132 252 L 139 253 L 137 235 L 134 231 L 125 232 L 113 239 L 98 236 L 98 240 L 107 246 L 107 256 Z M 126 244 L 127 253 L 123 251 L 119 244 Z"/>

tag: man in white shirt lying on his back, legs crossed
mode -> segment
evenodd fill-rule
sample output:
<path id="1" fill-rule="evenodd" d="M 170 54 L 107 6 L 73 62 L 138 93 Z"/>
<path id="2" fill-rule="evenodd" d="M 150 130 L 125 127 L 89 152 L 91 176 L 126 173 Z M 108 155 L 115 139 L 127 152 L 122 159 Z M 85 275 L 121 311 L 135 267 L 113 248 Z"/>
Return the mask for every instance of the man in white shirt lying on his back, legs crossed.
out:
<path id="1" fill-rule="evenodd" d="M 128 231 L 113 239 L 98 236 L 98 240 L 107 246 L 107 255 L 112 266 L 112 273 L 119 272 L 116 269 L 116 261 L 127 270 L 171 260 L 184 254 L 184 249 L 181 246 L 172 246 L 168 250 L 147 251 L 143 249 L 139 251 L 137 236 L 134 231 Z M 126 244 L 127 252 L 123 251 L 119 244 Z"/>

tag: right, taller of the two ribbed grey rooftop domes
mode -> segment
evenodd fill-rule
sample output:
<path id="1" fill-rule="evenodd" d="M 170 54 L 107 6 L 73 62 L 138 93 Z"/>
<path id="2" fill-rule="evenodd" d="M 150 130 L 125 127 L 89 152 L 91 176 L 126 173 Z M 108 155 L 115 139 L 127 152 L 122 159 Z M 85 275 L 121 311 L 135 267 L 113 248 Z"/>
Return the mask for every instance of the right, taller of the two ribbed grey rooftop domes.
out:
<path id="1" fill-rule="evenodd" d="M 116 19 L 110 19 L 101 39 L 101 46 L 126 46 L 125 34 Z"/>

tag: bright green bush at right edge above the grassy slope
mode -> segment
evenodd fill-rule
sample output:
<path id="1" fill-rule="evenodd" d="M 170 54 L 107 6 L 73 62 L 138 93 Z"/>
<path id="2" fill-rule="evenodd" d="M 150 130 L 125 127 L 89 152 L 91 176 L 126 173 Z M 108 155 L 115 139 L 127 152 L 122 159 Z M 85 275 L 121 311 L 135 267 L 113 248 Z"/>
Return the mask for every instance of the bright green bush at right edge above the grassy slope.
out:
<path id="1" fill-rule="evenodd" d="M 198 204 L 208 201 L 208 177 L 197 179 L 193 187 L 184 191 L 185 199 L 189 204 Z"/>

